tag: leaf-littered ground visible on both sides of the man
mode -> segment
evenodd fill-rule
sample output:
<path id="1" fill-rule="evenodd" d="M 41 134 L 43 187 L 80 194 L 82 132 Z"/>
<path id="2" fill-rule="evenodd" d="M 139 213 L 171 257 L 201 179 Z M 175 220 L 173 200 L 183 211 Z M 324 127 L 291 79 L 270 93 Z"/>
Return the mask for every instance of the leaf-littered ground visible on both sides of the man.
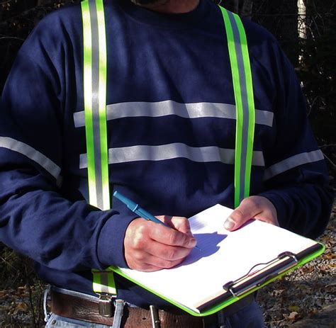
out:
<path id="1" fill-rule="evenodd" d="M 334 307 L 334 315 L 330 310 L 327 312 L 330 317 L 327 326 L 318 323 L 318 314 L 336 305 L 336 205 L 327 230 L 318 240 L 326 245 L 323 255 L 259 290 L 258 300 L 264 309 L 267 327 L 291 327 L 294 323 L 296 327 L 336 327 Z M 27 271 L 27 266 L 25 268 Z M 11 275 L 7 277 L 9 281 L 10 278 L 18 279 L 13 273 Z M 26 276 L 26 283 L 16 288 L 0 281 L 0 285 L 6 286 L 0 290 L 1 328 L 43 327 L 45 285 L 31 278 L 30 272 Z M 313 324 L 307 323 L 309 319 Z M 300 322 L 303 324 L 297 326 Z"/>

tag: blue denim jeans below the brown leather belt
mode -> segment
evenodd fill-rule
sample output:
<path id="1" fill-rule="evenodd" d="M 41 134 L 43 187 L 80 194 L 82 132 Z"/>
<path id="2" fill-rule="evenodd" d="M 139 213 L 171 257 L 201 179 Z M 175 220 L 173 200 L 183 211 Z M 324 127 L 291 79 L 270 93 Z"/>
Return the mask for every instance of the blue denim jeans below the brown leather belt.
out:
<path id="1" fill-rule="evenodd" d="M 47 320 L 46 328 L 55 327 L 92 327 L 92 328 L 108 328 L 111 326 L 105 326 L 103 324 L 94 324 L 91 322 L 85 322 L 82 320 L 69 319 L 66 317 L 60 317 L 59 315 L 51 314 Z M 264 328 L 264 319 L 262 317 L 262 310 L 257 302 L 253 301 L 249 305 L 242 307 L 242 309 L 235 312 L 230 317 L 224 317 L 224 322 L 221 326 L 205 326 L 206 328 Z M 141 328 L 141 327 L 139 327 Z M 174 327 L 172 327 L 174 328 Z"/>

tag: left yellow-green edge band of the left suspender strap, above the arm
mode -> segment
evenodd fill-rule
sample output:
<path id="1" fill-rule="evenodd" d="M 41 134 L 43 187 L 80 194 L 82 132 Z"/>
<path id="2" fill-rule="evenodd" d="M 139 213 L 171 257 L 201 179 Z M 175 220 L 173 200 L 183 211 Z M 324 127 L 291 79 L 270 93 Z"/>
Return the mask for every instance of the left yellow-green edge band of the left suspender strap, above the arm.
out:
<path id="1" fill-rule="evenodd" d="M 96 203 L 96 174 L 94 165 L 94 132 L 92 122 L 92 57 L 91 20 L 89 2 L 82 2 L 83 47 L 84 47 L 84 111 L 86 131 L 86 152 L 88 159 L 89 203 Z"/>

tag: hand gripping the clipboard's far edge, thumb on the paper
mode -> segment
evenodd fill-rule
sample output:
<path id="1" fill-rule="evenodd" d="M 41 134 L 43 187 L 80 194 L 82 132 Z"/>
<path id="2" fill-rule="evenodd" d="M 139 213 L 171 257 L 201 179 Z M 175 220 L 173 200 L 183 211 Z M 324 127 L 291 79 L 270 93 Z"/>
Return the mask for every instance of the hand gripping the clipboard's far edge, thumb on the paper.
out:
<path id="1" fill-rule="evenodd" d="M 276 208 L 271 201 L 262 196 L 250 196 L 242 200 L 242 203 L 231 213 L 224 227 L 230 231 L 237 230 L 252 218 L 279 226 Z"/>

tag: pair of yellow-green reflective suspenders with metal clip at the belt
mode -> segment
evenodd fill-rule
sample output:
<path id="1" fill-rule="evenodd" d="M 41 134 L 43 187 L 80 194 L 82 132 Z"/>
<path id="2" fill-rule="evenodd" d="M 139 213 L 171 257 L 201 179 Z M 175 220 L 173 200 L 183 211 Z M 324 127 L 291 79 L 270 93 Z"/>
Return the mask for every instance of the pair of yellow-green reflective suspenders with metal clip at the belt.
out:
<path id="1" fill-rule="evenodd" d="M 236 103 L 235 208 L 250 194 L 254 140 L 254 96 L 245 29 L 239 16 L 223 14 Z M 103 0 L 82 2 L 84 40 L 84 110 L 88 160 L 89 203 L 110 209 L 108 138 L 106 129 L 106 28 Z M 92 270 L 93 289 L 100 295 L 99 312 L 110 317 L 117 290 L 112 271 Z M 122 302 L 118 300 L 118 302 Z M 116 302 L 117 313 L 122 306 Z M 119 310 L 118 310 L 119 309 Z M 120 318 L 119 318 L 120 319 Z M 116 324 L 118 326 L 118 324 Z"/>

